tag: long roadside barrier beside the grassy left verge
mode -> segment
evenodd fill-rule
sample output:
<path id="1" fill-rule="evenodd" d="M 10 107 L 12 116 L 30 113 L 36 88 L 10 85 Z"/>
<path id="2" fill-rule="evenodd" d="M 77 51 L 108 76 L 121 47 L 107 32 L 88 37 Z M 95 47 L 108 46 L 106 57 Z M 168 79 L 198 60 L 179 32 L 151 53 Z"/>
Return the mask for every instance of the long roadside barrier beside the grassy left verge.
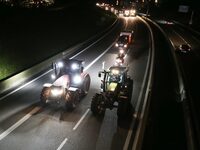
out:
<path id="1" fill-rule="evenodd" d="M 55 62 L 56 60 L 58 60 L 60 58 L 67 57 L 67 56 L 71 55 L 72 53 L 79 51 L 80 48 L 82 48 L 84 45 L 90 44 L 94 40 L 98 41 L 100 39 L 100 37 L 103 37 L 104 34 L 107 34 L 107 32 L 111 28 L 114 28 L 114 26 L 117 25 L 117 23 L 118 23 L 118 19 L 115 19 L 115 21 L 109 27 L 107 27 L 102 32 L 92 36 L 88 40 L 86 40 L 82 43 L 79 43 L 75 46 L 72 46 L 63 52 L 10 77 L 9 79 L 1 81 L 0 82 L 0 94 L 3 94 L 4 92 L 11 90 L 13 88 L 17 88 L 18 86 L 24 84 L 24 82 L 26 82 L 29 79 L 31 79 L 32 77 L 38 75 L 40 72 L 44 71 L 48 67 L 50 68 L 52 62 Z"/>

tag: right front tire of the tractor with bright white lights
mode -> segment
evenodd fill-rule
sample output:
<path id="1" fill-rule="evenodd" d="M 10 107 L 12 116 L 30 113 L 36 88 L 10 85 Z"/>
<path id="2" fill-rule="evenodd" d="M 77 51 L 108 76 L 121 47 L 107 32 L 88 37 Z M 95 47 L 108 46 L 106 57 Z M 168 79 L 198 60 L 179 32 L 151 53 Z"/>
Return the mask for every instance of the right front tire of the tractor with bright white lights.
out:
<path id="1" fill-rule="evenodd" d="M 65 108 L 67 110 L 73 110 L 74 108 L 76 108 L 78 102 L 80 101 L 80 94 L 77 91 L 70 91 L 70 92 L 67 92 L 65 94 Z"/>

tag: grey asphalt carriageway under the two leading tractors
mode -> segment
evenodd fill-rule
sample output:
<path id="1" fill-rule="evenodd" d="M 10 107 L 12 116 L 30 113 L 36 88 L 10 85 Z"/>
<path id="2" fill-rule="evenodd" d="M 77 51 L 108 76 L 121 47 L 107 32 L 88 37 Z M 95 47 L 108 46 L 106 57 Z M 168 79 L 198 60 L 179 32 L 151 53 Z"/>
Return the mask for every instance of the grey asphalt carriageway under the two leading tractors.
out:
<path id="1" fill-rule="evenodd" d="M 126 29 L 135 31 L 135 40 L 126 58 L 130 67 L 130 75 L 134 79 L 132 98 L 134 107 L 146 69 L 149 39 L 146 26 L 140 19 L 127 20 L 126 23 Z M 38 108 L 35 114 L 1 139 L 2 149 L 123 148 L 131 120 L 126 120 L 124 124 L 119 125 L 116 109 L 107 110 L 104 118 L 96 118 L 90 111 L 91 98 L 99 91 L 100 81 L 97 73 L 102 69 L 102 62 L 105 62 L 105 68 L 108 68 L 115 61 L 116 48 L 113 43 L 120 28 L 115 28 L 108 36 L 75 57 L 85 60 L 86 71 L 89 72 L 92 82 L 88 95 L 72 112 L 66 111 L 59 104 L 50 104 L 44 108 L 39 106 L 42 84 L 50 82 L 50 74 L 0 102 L 0 112 L 3 114 L 0 117 L 1 135 L 30 110 Z"/>

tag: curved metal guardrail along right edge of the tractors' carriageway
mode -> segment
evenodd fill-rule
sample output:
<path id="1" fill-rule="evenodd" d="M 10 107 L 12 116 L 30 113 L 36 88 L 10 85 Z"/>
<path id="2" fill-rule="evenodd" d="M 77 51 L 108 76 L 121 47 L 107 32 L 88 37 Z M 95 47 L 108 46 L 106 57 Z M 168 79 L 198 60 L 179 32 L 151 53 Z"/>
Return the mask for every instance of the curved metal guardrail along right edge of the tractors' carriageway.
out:
<path id="1" fill-rule="evenodd" d="M 151 27 L 149 26 L 149 24 L 144 21 L 144 19 L 141 19 L 147 26 L 147 28 L 149 29 L 150 35 L 149 35 L 149 53 L 150 53 L 150 57 L 148 58 L 148 63 L 147 63 L 147 70 L 145 72 L 145 77 L 144 77 L 144 85 L 142 85 L 143 88 L 145 88 L 146 90 L 143 89 L 142 92 L 142 96 L 140 97 L 141 99 L 143 99 L 143 103 L 141 103 L 139 105 L 138 108 L 138 112 L 137 112 L 137 121 L 138 126 L 137 126 L 137 130 L 136 130 L 136 134 L 135 134 L 135 138 L 133 141 L 133 145 L 132 145 L 132 150 L 140 150 L 142 147 L 142 141 L 143 141 L 143 136 L 144 136 L 144 132 L 145 132 L 145 125 L 147 122 L 147 116 L 148 116 L 148 112 L 149 112 L 149 98 L 151 96 L 151 88 L 152 88 L 152 81 L 153 81 L 153 70 L 154 70 L 154 57 L 155 57 L 155 52 L 154 52 L 154 37 L 153 37 L 153 32 L 151 30 Z"/>

